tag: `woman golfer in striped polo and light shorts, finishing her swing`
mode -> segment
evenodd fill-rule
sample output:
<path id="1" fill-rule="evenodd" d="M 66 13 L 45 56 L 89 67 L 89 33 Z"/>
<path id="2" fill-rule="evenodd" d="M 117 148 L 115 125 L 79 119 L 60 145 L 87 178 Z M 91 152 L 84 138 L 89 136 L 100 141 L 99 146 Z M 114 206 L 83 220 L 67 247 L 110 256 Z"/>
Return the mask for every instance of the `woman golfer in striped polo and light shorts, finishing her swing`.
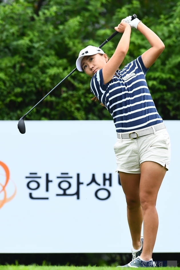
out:
<path id="1" fill-rule="evenodd" d="M 144 35 L 150 49 L 119 70 L 129 49 L 131 28 Z M 80 51 L 76 67 L 92 77 L 91 92 L 111 113 L 116 127 L 114 151 L 133 245 L 132 261 L 125 267 L 154 267 L 156 200 L 169 169 L 170 141 L 145 75 L 165 46 L 138 18 L 126 17 L 115 30 L 123 35 L 109 60 L 101 49 L 88 46 Z"/>

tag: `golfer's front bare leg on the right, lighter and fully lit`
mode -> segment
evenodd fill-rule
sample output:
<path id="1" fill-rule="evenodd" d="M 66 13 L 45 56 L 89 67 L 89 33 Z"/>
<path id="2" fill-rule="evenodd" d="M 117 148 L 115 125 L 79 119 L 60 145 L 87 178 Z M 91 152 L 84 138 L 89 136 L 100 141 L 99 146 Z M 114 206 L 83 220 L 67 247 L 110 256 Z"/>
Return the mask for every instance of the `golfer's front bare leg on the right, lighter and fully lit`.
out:
<path id="1" fill-rule="evenodd" d="M 160 164 L 146 161 L 141 164 L 141 180 L 139 196 L 143 210 L 143 251 L 141 258 L 150 260 L 156 241 L 158 229 L 158 215 L 156 200 L 159 188 L 165 176 L 166 169 Z"/>

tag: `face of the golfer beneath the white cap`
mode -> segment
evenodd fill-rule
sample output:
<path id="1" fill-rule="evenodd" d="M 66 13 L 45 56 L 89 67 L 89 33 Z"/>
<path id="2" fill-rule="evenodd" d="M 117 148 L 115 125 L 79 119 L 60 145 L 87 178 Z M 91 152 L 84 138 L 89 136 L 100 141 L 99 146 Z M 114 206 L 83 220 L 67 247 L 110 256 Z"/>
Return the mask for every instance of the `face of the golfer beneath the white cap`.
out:
<path id="1" fill-rule="evenodd" d="M 81 61 L 81 66 L 83 71 L 91 77 L 99 70 L 104 67 L 104 65 L 107 63 L 108 57 L 104 54 L 94 54 L 94 55 L 88 55 L 83 58 Z"/>

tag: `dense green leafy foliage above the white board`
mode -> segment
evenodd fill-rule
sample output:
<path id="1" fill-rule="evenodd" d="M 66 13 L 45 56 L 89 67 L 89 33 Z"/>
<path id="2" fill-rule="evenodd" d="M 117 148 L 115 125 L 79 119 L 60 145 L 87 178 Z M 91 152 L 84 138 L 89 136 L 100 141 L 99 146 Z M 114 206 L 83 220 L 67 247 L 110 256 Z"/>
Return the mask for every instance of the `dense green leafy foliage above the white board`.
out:
<path id="1" fill-rule="evenodd" d="M 180 119 L 180 1 L 0 1 L 0 119 L 18 120 L 74 68 L 79 51 L 99 46 L 122 18 L 136 13 L 157 33 L 165 50 L 147 73 L 163 119 Z M 111 56 L 121 34 L 103 50 Z M 123 65 L 149 48 L 132 30 Z M 123 66 L 122 65 L 122 66 Z M 90 77 L 75 71 L 28 116 L 31 120 L 111 119 L 91 101 Z"/>

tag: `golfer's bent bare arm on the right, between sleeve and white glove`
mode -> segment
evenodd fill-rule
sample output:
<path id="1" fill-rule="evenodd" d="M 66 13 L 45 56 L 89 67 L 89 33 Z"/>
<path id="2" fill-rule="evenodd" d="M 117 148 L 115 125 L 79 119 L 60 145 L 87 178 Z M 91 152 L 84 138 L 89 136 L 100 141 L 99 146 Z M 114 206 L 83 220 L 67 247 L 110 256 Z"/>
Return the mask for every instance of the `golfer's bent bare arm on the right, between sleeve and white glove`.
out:
<path id="1" fill-rule="evenodd" d="M 137 30 L 145 36 L 151 45 L 151 48 L 142 54 L 142 60 L 145 67 L 149 68 L 163 52 L 165 45 L 163 41 L 142 22 L 138 23 Z"/>

